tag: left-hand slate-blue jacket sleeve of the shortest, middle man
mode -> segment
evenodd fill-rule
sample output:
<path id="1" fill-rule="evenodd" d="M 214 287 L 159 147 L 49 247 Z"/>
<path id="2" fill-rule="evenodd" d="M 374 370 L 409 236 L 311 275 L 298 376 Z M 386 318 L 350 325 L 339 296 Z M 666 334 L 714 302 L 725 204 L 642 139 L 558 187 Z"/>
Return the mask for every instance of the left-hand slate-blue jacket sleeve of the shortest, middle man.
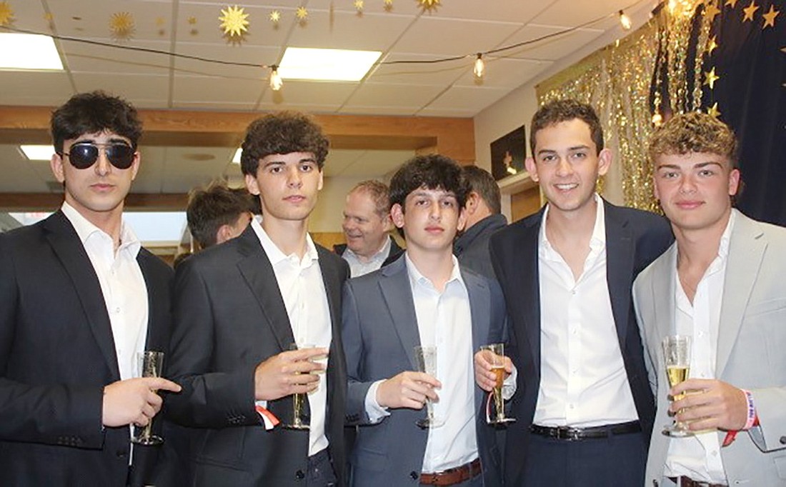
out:
<path id="1" fill-rule="evenodd" d="M 365 412 L 365 395 L 372 382 L 362 382 L 363 337 L 358 315 L 358 303 L 350 281 L 343 285 L 341 341 L 347 357 L 347 423 L 370 423 Z"/>

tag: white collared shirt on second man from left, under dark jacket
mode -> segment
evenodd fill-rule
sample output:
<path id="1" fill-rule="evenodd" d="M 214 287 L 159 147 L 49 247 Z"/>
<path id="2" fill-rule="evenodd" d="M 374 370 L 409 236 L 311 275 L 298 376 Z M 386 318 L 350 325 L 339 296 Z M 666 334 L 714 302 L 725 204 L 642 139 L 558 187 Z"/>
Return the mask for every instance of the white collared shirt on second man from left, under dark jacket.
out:
<path id="1" fill-rule="evenodd" d="M 262 225 L 252 220 L 252 229 L 262 243 L 262 247 L 273 265 L 278 290 L 287 309 L 292 336 L 299 344 L 308 344 L 329 348 L 332 339 L 330 308 L 325 281 L 319 267 L 319 254 L 311 236 L 306 234 L 306 254 L 299 258 L 297 254 L 285 255 Z M 330 360 L 330 357 L 328 357 Z M 313 456 L 328 447 L 325 436 L 325 405 L 327 404 L 328 386 L 324 376 L 320 377 L 317 390 L 308 394 L 308 405 L 311 412 L 308 455 Z M 258 404 L 266 405 L 264 401 Z"/>

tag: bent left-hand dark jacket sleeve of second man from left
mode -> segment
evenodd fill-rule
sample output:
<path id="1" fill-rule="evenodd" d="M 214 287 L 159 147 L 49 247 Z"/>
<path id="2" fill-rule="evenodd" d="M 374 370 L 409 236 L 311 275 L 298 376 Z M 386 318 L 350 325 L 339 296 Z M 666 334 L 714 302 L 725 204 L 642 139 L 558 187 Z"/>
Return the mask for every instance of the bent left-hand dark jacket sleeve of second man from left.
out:
<path id="1" fill-rule="evenodd" d="M 178 266 L 174 282 L 174 328 L 169 371 L 182 386 L 167 397 L 167 415 L 189 427 L 221 428 L 259 424 L 255 412 L 255 367 L 212 372 L 214 309 L 209 283 L 196 259 Z"/>

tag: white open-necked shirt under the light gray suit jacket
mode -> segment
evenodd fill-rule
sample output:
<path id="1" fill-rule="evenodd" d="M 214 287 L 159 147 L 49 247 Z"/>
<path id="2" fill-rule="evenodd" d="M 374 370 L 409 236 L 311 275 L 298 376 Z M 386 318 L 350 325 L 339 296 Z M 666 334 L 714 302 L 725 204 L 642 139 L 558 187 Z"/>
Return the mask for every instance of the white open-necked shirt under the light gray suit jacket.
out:
<path id="1" fill-rule="evenodd" d="M 734 212 L 721 236 L 718 256 L 704 272 L 691 304 L 674 272 L 676 309 L 674 323 L 678 335 L 692 337 L 689 377 L 714 379 L 717 364 L 718 330 L 721 323 L 723 283 L 729 258 L 729 239 L 734 227 Z M 661 394 L 661 393 L 659 393 Z M 664 474 L 667 477 L 686 475 L 700 482 L 726 484 L 721 458 L 721 445 L 716 430 L 687 438 L 671 438 Z"/>

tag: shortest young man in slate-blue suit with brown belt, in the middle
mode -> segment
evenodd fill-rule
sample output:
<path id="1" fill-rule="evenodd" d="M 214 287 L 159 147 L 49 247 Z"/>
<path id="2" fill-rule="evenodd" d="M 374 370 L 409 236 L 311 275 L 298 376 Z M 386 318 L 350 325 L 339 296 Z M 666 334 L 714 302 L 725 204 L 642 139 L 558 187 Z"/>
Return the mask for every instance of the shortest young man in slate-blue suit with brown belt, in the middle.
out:
<path id="1" fill-rule="evenodd" d="M 391 216 L 406 253 L 344 285 L 347 423 L 362 425 L 350 456 L 352 485 L 501 485 L 472 354 L 502 341 L 505 304 L 495 281 L 453 255 L 467 194 L 452 159 L 411 159 L 391 181 Z M 436 377 L 413 372 L 417 345 L 437 347 Z M 417 427 L 427 398 L 443 426 Z"/>

